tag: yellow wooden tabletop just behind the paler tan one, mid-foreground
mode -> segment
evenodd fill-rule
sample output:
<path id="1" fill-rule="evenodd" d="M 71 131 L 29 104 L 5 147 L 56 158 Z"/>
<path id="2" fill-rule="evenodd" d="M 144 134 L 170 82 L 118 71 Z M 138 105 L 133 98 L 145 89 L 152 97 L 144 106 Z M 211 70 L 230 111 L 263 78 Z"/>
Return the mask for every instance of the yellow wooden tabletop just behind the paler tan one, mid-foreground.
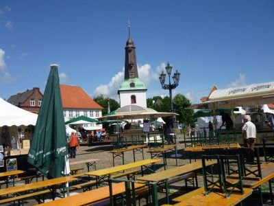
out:
<path id="1" fill-rule="evenodd" d="M 92 172 L 87 172 L 86 174 L 94 175 L 94 176 L 105 176 L 105 175 L 112 174 L 112 173 L 115 173 L 115 172 L 121 172 L 123 170 L 129 170 L 129 169 L 137 168 L 137 167 L 140 167 L 140 166 L 143 166 L 143 165 L 156 163 L 158 161 L 161 161 L 161 159 L 145 159 L 145 160 L 136 161 L 136 162 L 133 162 L 133 163 L 127 163 L 125 165 L 118 165 L 118 166 L 115 166 L 115 167 L 112 167 L 112 168 L 105 168 L 105 169 L 102 169 L 102 170 L 95 170 L 95 171 L 92 171 Z"/>

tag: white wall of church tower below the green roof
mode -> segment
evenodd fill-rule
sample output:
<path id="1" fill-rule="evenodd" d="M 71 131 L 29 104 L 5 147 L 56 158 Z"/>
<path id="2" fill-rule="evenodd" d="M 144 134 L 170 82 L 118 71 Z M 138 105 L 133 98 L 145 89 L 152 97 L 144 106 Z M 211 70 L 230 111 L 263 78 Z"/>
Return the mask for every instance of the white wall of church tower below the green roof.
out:
<path id="1" fill-rule="evenodd" d="M 147 92 L 143 91 L 120 91 L 120 106 L 126 106 L 132 104 L 131 96 L 136 96 L 136 105 L 147 107 Z"/>

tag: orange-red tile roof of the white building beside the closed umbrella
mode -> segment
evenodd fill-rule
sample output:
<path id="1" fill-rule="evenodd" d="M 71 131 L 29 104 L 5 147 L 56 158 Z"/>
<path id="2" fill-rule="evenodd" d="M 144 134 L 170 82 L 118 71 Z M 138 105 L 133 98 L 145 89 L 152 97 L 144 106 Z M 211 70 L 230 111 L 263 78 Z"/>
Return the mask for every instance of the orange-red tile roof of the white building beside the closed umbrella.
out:
<path id="1" fill-rule="evenodd" d="M 103 108 L 92 100 L 81 87 L 60 85 L 60 90 L 63 108 Z"/>

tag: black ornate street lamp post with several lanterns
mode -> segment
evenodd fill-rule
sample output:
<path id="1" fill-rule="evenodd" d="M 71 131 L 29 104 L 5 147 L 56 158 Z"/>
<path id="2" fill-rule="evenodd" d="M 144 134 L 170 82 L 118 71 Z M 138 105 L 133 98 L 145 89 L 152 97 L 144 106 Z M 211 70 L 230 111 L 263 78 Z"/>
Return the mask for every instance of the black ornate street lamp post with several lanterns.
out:
<path id="1" fill-rule="evenodd" d="M 169 65 L 169 62 L 167 62 L 167 66 L 165 68 L 166 68 L 166 73 L 169 75 L 169 84 L 165 84 L 166 74 L 164 73 L 164 71 L 162 71 L 162 73 L 160 74 L 159 80 L 162 85 L 162 89 L 169 89 L 169 101 L 170 101 L 169 104 L 171 106 L 171 112 L 174 113 L 174 108 L 173 108 L 173 103 L 172 103 L 172 90 L 175 89 L 179 84 L 180 73 L 176 70 L 176 72 L 174 73 L 174 76 L 172 77 L 173 84 L 171 84 L 172 67 L 171 67 L 171 65 Z M 177 128 L 176 117 L 173 116 L 172 120 L 173 120 L 173 128 Z"/>

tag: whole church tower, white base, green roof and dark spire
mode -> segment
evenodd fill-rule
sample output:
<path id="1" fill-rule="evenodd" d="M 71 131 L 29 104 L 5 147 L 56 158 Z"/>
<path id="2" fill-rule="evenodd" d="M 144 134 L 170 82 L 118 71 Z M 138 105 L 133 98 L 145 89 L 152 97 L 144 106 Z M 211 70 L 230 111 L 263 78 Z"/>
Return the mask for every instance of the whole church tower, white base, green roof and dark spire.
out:
<path id="1" fill-rule="evenodd" d="M 120 106 L 136 104 L 147 107 L 147 88 L 138 78 L 134 41 L 130 36 L 125 45 L 125 78 L 118 90 Z"/>

